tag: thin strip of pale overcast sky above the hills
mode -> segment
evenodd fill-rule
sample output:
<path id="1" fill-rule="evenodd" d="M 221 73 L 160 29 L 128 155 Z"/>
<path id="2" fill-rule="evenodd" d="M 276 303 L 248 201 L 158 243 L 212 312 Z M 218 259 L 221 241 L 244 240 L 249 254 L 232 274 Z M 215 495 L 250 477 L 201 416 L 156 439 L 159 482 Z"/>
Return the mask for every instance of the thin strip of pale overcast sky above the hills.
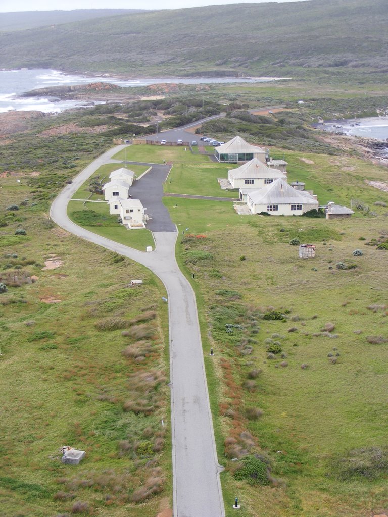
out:
<path id="1" fill-rule="evenodd" d="M 202 5 L 225 5 L 261 3 L 268 0 L 0 0 L 0 12 L 15 11 L 52 11 L 72 9 L 182 9 Z M 272 0 L 273 1 L 273 0 Z M 296 2 L 297 0 L 276 0 L 277 2 Z"/>

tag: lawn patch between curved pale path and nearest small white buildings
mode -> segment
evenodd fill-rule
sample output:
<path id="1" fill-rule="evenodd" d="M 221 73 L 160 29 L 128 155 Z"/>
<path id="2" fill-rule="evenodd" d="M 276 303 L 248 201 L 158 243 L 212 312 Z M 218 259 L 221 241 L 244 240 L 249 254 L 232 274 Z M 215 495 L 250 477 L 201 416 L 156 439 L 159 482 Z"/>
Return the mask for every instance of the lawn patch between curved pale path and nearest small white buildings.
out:
<path id="1" fill-rule="evenodd" d="M 93 217 L 86 215 L 91 211 L 94 212 Z M 85 212 L 85 215 L 82 212 Z M 147 246 L 154 247 L 155 245 L 152 233 L 149 230 L 127 230 L 125 226 L 117 223 L 117 216 L 109 214 L 107 203 L 86 203 L 86 206 L 84 206 L 81 201 L 71 201 L 68 205 L 67 214 L 73 222 L 83 226 L 86 230 L 115 242 L 120 242 L 125 246 L 145 251 Z"/>

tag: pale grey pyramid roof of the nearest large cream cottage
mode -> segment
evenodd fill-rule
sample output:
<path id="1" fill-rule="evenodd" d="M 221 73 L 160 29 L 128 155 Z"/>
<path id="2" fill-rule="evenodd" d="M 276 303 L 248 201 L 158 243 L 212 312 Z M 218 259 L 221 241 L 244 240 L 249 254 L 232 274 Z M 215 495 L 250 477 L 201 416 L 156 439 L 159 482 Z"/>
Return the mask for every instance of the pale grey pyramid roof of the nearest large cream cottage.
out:
<path id="1" fill-rule="evenodd" d="M 248 194 L 255 205 L 287 205 L 296 203 L 314 203 L 318 201 L 305 190 L 295 190 L 282 178 L 276 179 L 270 185 Z"/>

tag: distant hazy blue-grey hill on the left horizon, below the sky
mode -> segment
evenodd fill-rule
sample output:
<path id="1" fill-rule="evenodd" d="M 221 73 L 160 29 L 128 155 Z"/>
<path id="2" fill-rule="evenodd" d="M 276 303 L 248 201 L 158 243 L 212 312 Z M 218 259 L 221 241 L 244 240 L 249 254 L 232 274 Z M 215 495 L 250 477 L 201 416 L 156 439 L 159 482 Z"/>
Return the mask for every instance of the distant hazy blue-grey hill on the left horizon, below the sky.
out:
<path id="1" fill-rule="evenodd" d="M 72 11 L 2 12 L 0 31 L 21 31 L 44 25 L 85 21 L 107 16 L 122 16 L 123 14 L 144 11 L 144 9 L 75 9 Z"/>

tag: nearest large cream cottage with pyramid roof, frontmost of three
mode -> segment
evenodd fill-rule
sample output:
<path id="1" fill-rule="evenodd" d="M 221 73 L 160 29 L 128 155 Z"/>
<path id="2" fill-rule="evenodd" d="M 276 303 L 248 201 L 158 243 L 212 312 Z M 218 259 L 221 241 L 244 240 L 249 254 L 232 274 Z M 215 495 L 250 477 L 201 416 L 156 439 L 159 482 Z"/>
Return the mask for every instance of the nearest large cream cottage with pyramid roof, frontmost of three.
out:
<path id="1" fill-rule="evenodd" d="M 274 216 L 300 216 L 315 208 L 317 196 L 304 190 L 295 190 L 282 178 L 270 185 L 247 194 L 247 205 L 252 214 L 268 212 Z"/>

